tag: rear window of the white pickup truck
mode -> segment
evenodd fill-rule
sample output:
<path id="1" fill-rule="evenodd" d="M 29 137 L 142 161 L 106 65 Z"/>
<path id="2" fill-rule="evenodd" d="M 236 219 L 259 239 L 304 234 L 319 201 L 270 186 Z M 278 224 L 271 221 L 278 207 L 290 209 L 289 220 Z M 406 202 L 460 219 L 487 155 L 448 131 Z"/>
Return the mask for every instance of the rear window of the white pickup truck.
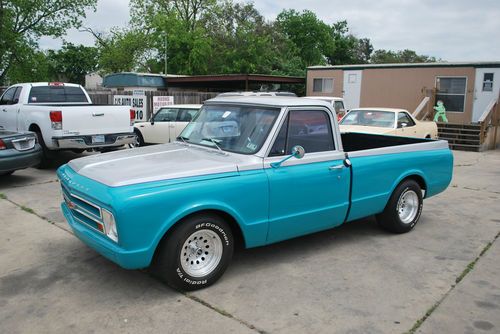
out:
<path id="1" fill-rule="evenodd" d="M 81 87 L 35 86 L 31 87 L 28 103 L 88 103 Z"/>

